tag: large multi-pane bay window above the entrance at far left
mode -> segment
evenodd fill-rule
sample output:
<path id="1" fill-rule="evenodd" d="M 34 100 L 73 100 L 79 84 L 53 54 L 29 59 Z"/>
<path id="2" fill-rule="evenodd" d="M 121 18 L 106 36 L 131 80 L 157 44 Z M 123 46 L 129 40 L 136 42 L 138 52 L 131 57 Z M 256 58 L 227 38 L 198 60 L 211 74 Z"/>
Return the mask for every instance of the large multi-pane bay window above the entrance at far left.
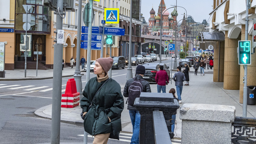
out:
<path id="1" fill-rule="evenodd" d="M 48 7 L 44 7 L 42 0 L 16 0 L 15 1 L 15 32 L 24 33 L 23 29 L 23 14 L 25 10 L 23 4 L 32 5 L 31 9 L 28 11 L 28 14 L 31 14 L 31 28 L 28 30 L 28 33 L 45 33 L 50 34 L 51 26 L 51 11 Z"/>

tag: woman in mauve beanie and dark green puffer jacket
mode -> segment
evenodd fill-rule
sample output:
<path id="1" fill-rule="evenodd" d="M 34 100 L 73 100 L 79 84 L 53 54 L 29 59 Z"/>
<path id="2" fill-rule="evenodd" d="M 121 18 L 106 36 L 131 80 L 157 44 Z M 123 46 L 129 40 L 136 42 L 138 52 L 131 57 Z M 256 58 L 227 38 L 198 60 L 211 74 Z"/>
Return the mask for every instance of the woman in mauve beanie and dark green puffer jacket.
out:
<path id="1" fill-rule="evenodd" d="M 108 77 L 112 64 L 111 57 L 96 60 L 93 71 L 97 76 L 86 83 L 80 103 L 84 129 L 94 136 L 93 144 L 107 144 L 108 138 L 119 140 L 122 129 L 124 98 L 120 85 Z"/>

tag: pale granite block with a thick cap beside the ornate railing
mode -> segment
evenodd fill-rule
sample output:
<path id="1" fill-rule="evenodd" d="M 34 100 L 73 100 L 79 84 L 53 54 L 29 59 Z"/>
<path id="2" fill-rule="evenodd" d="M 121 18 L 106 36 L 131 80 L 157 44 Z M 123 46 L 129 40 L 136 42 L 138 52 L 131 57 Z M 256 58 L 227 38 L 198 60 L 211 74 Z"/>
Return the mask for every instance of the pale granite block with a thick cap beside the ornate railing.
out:
<path id="1" fill-rule="evenodd" d="M 182 143 L 231 144 L 234 106 L 185 103 L 180 107 Z"/>

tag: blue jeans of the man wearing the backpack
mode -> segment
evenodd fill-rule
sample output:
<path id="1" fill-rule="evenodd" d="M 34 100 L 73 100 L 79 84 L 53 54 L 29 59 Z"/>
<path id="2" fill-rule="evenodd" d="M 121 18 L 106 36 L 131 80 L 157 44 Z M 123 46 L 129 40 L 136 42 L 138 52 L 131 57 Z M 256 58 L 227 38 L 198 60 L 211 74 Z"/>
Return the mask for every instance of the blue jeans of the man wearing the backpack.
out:
<path id="1" fill-rule="evenodd" d="M 129 110 L 129 114 L 132 121 L 131 144 L 139 144 L 141 114 L 135 110 Z"/>

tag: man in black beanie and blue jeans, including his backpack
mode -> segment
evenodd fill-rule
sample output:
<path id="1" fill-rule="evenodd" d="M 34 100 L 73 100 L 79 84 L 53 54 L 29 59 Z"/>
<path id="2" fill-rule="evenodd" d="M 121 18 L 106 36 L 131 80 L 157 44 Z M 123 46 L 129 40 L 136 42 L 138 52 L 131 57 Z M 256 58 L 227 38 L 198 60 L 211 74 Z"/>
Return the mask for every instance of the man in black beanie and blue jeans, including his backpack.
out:
<path id="1" fill-rule="evenodd" d="M 141 94 L 141 91 L 139 93 L 135 93 L 135 91 L 131 91 L 131 89 L 134 89 L 135 83 L 142 86 L 142 92 L 148 92 L 151 93 L 150 84 L 148 81 L 145 81 L 142 79 L 144 76 L 146 70 L 145 67 L 142 65 L 138 65 L 136 68 L 136 75 L 134 78 L 129 79 L 126 81 L 126 84 L 124 86 L 124 97 L 128 97 L 128 106 L 127 109 L 129 110 L 131 122 L 132 122 L 132 138 L 131 138 L 131 144 L 139 144 L 139 136 L 140 136 L 140 121 L 141 121 L 141 114 L 140 112 L 134 107 L 134 100 L 135 97 L 139 97 Z"/>

